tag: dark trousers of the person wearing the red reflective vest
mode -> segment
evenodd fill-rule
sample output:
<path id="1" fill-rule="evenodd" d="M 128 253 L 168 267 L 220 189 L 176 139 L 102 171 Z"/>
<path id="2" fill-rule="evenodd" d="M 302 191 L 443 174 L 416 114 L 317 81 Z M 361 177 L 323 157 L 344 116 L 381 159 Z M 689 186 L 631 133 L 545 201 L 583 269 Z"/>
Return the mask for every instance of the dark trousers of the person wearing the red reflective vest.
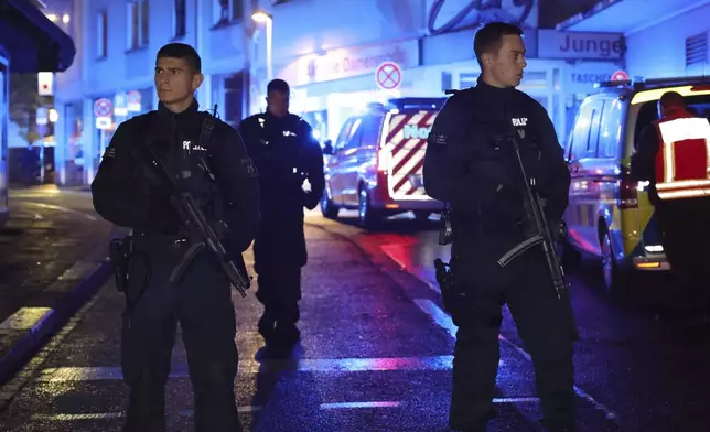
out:
<path id="1" fill-rule="evenodd" d="M 693 307 L 710 312 L 710 198 L 657 202 L 664 251 Z"/>

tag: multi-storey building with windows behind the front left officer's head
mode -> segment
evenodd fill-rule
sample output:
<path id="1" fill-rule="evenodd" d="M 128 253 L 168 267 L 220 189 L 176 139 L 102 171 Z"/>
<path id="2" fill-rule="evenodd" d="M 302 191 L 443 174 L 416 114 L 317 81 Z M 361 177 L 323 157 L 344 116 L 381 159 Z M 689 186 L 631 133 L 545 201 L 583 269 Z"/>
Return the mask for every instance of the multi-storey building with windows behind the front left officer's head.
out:
<path id="1" fill-rule="evenodd" d="M 78 55 L 56 77 L 57 183 L 89 184 L 118 125 L 157 108 L 153 68 L 166 43 L 200 52 L 204 109 L 218 104 L 233 125 L 246 114 L 250 1 L 74 0 L 72 8 Z"/>

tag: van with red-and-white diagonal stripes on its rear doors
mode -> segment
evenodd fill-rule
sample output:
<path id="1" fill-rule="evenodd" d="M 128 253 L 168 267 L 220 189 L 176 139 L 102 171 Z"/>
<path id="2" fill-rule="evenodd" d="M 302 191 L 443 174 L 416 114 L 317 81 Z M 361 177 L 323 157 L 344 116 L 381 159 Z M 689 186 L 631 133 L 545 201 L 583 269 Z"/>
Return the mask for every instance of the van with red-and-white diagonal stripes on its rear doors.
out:
<path id="1" fill-rule="evenodd" d="M 336 218 L 358 210 L 361 226 L 413 212 L 426 219 L 443 204 L 427 195 L 421 179 L 427 137 L 445 98 L 394 98 L 348 118 L 334 143 L 326 141 L 321 210 Z"/>

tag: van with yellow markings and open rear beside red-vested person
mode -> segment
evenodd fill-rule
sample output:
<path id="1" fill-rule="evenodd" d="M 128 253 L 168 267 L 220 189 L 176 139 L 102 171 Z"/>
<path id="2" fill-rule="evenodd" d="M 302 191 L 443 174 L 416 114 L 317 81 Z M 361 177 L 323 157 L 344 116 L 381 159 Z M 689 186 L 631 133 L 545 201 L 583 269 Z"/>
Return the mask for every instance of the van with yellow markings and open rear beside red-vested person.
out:
<path id="1" fill-rule="evenodd" d="M 630 161 L 666 91 L 684 96 L 690 110 L 710 116 L 710 79 L 684 77 L 600 83 L 580 106 L 564 145 L 570 204 L 569 245 L 601 261 L 604 285 L 617 294 L 638 271 L 667 271 L 647 182 L 634 182 Z"/>

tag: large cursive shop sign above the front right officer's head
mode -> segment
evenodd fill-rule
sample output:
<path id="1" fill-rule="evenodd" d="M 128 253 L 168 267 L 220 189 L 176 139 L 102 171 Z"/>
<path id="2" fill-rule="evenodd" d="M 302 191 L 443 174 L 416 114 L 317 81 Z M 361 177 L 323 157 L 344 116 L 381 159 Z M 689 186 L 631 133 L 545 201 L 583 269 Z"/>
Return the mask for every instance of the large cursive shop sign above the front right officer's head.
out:
<path id="1" fill-rule="evenodd" d="M 537 0 L 427 0 L 427 28 L 432 35 L 494 21 L 537 26 Z"/>

